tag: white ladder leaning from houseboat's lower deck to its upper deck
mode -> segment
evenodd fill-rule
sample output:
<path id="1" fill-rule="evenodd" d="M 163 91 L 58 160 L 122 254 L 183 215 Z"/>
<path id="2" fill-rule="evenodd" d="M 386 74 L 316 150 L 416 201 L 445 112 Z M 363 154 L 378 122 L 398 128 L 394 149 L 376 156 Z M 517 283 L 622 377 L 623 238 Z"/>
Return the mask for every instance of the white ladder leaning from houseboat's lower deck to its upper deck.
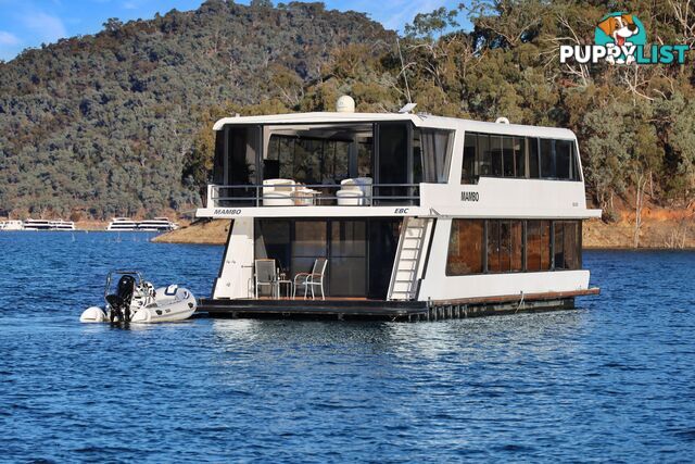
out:
<path id="1" fill-rule="evenodd" d="M 431 224 L 432 220 L 421 217 L 403 220 L 389 285 L 389 300 L 413 300 L 417 297 L 420 262 Z"/>

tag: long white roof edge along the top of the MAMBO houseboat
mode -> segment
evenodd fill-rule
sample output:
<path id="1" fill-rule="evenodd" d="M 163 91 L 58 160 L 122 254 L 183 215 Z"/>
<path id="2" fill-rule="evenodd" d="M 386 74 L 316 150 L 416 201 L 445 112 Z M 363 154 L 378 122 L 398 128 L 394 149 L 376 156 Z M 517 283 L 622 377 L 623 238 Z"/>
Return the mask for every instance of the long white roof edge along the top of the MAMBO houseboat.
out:
<path id="1" fill-rule="evenodd" d="M 462 120 L 456 117 L 434 116 L 431 114 L 403 114 L 403 113 L 288 113 L 271 114 L 265 116 L 233 116 L 223 117 L 213 126 L 214 130 L 220 130 L 225 125 L 247 124 L 329 124 L 329 123 L 374 123 L 380 121 L 409 121 L 416 127 L 438 127 L 455 129 L 464 124 L 467 130 L 495 134 L 509 134 L 519 136 L 536 136 L 547 138 L 574 139 L 574 134 L 569 129 L 543 126 L 527 126 L 522 124 L 502 124 L 482 121 Z"/>

